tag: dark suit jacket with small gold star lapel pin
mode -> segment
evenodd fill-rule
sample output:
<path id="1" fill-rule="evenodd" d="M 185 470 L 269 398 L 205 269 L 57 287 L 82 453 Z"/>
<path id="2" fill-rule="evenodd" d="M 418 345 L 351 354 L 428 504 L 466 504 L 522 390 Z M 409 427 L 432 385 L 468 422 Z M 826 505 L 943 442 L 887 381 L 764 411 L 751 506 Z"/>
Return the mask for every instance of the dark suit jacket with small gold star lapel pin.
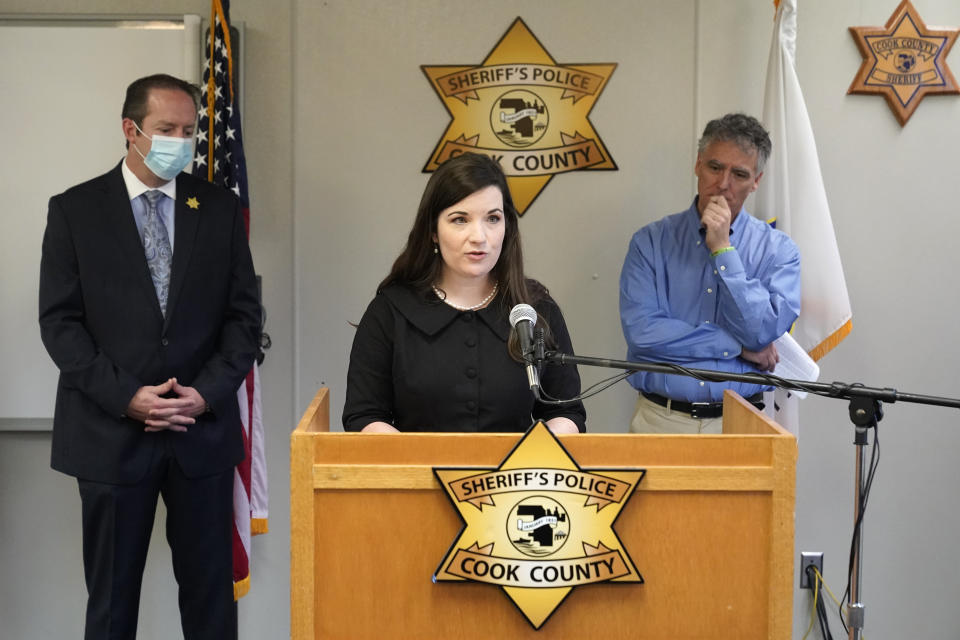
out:
<path id="1" fill-rule="evenodd" d="M 163 438 L 189 477 L 243 459 L 236 391 L 256 354 L 260 307 L 240 203 L 181 173 L 175 216 L 164 319 L 120 165 L 50 199 L 40 334 L 60 369 L 51 455 L 58 471 L 134 483 Z M 130 399 L 170 377 L 195 387 L 212 411 L 186 433 L 144 433 L 124 415 Z"/>

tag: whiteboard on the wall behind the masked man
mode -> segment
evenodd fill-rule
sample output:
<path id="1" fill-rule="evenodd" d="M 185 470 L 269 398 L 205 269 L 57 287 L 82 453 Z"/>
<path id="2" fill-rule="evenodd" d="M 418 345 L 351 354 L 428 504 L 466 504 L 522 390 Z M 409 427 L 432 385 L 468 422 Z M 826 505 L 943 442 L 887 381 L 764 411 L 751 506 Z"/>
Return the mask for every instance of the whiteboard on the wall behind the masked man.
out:
<path id="1" fill-rule="evenodd" d="M 37 324 L 50 196 L 124 156 L 130 82 L 199 82 L 201 38 L 194 15 L 0 15 L 0 429 L 50 428 L 53 416 L 57 370 Z"/>

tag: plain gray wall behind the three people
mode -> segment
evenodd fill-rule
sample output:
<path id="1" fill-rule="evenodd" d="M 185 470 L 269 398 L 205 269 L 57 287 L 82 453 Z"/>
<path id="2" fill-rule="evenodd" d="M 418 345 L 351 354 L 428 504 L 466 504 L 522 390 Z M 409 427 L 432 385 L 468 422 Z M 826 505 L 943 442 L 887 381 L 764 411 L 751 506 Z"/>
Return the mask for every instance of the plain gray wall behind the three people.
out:
<path id="1" fill-rule="evenodd" d="M 931 24 L 960 24 L 955 0 L 914 4 Z M 44 10 L 204 14 L 208 6 L 88 0 Z M 882 25 L 895 6 L 800 6 L 799 74 L 854 309 L 853 333 L 821 362 L 822 379 L 960 395 L 950 374 L 960 355 L 950 338 L 958 303 L 948 284 L 960 231 L 960 99 L 927 98 L 901 128 L 882 99 L 845 95 L 860 59 L 847 27 Z M 0 13 L 35 11 L 27 0 L 0 0 Z M 288 635 L 288 435 L 321 385 L 332 389 L 339 423 L 348 322 L 399 251 L 426 182 L 419 168 L 446 127 L 419 65 L 479 63 L 517 15 L 558 62 L 619 63 L 591 120 L 620 170 L 558 176 L 521 224 L 527 270 L 563 307 L 577 351 L 622 357 L 617 276 L 629 235 L 689 204 L 696 132 L 707 119 L 759 112 L 771 11 L 767 0 L 235 0 L 233 18 L 246 23 L 252 246 L 274 338 L 263 369 L 271 533 L 254 539 L 242 637 Z M 948 62 L 960 72 L 960 56 Z M 632 402 L 625 386 L 590 401 L 590 429 L 623 431 Z M 797 550 L 826 553 L 839 595 L 852 430 L 841 402 L 810 398 L 801 412 Z M 864 551 L 874 640 L 960 637 L 952 610 L 960 516 L 947 507 L 960 483 L 956 427 L 953 411 L 886 407 Z M 0 620 L 14 638 L 76 636 L 81 620 L 79 500 L 73 481 L 49 470 L 48 449 L 48 434 L 0 433 Z M 176 620 L 159 527 L 155 538 L 143 638 L 170 637 Z M 808 615 L 808 592 L 798 592 L 795 637 Z"/>

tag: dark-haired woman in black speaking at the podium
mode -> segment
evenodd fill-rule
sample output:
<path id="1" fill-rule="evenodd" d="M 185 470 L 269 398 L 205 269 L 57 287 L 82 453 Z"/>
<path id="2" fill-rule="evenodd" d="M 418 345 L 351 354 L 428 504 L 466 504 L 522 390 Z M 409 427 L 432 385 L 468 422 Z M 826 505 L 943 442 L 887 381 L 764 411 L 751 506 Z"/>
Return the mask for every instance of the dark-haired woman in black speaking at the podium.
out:
<path id="1" fill-rule="evenodd" d="M 525 431 L 536 420 L 556 433 L 586 429 L 580 402 L 533 397 L 508 316 L 537 311 L 547 348 L 572 352 L 560 308 L 523 273 L 519 216 L 500 166 L 456 156 L 433 173 L 407 244 L 377 287 L 350 352 L 347 431 Z M 580 392 L 575 365 L 544 368 L 554 398 Z"/>

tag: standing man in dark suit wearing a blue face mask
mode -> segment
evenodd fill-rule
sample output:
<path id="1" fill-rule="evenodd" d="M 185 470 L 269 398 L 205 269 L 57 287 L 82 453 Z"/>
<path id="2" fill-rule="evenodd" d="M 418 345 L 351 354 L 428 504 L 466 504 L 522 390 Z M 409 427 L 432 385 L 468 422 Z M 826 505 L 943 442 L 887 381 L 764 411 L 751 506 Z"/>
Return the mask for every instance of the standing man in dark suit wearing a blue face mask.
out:
<path id="1" fill-rule="evenodd" d="M 77 478 L 86 640 L 136 636 L 158 497 L 186 640 L 236 638 L 236 390 L 260 306 L 239 200 L 182 173 L 199 91 L 132 83 L 126 157 L 50 199 L 40 333 L 60 369 L 51 466 Z"/>

